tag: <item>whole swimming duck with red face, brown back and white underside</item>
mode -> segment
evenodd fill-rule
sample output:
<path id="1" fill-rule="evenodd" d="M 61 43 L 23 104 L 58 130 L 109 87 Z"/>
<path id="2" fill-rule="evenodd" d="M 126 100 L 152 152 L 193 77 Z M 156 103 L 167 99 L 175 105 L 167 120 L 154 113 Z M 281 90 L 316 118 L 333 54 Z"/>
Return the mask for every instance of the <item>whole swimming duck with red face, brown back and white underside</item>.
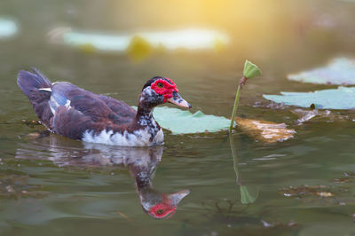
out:
<path id="1" fill-rule="evenodd" d="M 170 78 L 155 76 L 143 86 L 137 111 L 105 95 L 67 82 L 51 83 L 36 68 L 21 70 L 17 84 L 28 97 L 36 116 L 52 133 L 114 146 L 162 145 L 164 134 L 154 120 L 155 106 L 172 103 L 191 108 Z"/>

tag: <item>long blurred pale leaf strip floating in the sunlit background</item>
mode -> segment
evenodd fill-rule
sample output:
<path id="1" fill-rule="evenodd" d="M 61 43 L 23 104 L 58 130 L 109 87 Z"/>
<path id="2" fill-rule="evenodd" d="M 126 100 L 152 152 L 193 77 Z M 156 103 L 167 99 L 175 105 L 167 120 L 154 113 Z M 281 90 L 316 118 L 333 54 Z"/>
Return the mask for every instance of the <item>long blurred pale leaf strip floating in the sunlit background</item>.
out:
<path id="1" fill-rule="evenodd" d="M 154 48 L 163 47 L 168 50 L 180 48 L 187 50 L 215 49 L 216 42 L 227 44 L 229 37 L 214 30 L 187 28 L 173 31 L 137 32 L 128 34 L 100 34 L 54 28 L 49 32 L 51 42 L 65 43 L 75 47 L 90 44 L 99 51 L 126 51 L 133 38 L 138 35 Z"/>

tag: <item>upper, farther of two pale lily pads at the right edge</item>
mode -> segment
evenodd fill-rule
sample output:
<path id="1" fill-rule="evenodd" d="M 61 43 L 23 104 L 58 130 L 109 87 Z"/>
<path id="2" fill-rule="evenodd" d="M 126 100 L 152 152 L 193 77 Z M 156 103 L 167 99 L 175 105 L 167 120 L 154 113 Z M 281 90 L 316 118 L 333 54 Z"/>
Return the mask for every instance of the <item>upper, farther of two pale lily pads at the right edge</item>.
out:
<path id="1" fill-rule="evenodd" d="M 327 67 L 319 67 L 296 75 L 288 75 L 288 79 L 303 83 L 355 84 L 355 59 L 333 59 Z"/>

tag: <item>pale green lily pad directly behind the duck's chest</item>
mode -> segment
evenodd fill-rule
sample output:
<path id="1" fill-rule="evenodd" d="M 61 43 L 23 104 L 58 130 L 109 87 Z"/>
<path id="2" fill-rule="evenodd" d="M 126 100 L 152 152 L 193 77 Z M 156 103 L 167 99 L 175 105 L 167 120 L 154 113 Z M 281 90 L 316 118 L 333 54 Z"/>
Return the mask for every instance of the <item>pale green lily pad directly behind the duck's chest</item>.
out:
<path id="1" fill-rule="evenodd" d="M 228 130 L 230 120 L 223 116 L 203 114 L 197 111 L 194 114 L 189 111 L 170 108 L 167 106 L 154 108 L 154 119 L 172 134 L 191 134 L 203 132 L 218 132 Z"/>

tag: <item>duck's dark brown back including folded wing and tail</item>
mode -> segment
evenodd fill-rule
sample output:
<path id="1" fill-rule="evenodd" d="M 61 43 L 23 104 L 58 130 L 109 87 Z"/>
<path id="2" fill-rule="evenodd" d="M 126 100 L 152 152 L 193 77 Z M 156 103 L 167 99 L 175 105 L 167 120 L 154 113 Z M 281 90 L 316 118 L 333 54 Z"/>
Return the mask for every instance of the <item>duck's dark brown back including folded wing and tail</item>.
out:
<path id="1" fill-rule="evenodd" d="M 18 84 L 47 128 L 68 138 L 82 139 L 86 130 L 123 132 L 136 116 L 122 101 L 71 83 L 51 83 L 36 69 L 34 73 L 21 71 Z"/>

